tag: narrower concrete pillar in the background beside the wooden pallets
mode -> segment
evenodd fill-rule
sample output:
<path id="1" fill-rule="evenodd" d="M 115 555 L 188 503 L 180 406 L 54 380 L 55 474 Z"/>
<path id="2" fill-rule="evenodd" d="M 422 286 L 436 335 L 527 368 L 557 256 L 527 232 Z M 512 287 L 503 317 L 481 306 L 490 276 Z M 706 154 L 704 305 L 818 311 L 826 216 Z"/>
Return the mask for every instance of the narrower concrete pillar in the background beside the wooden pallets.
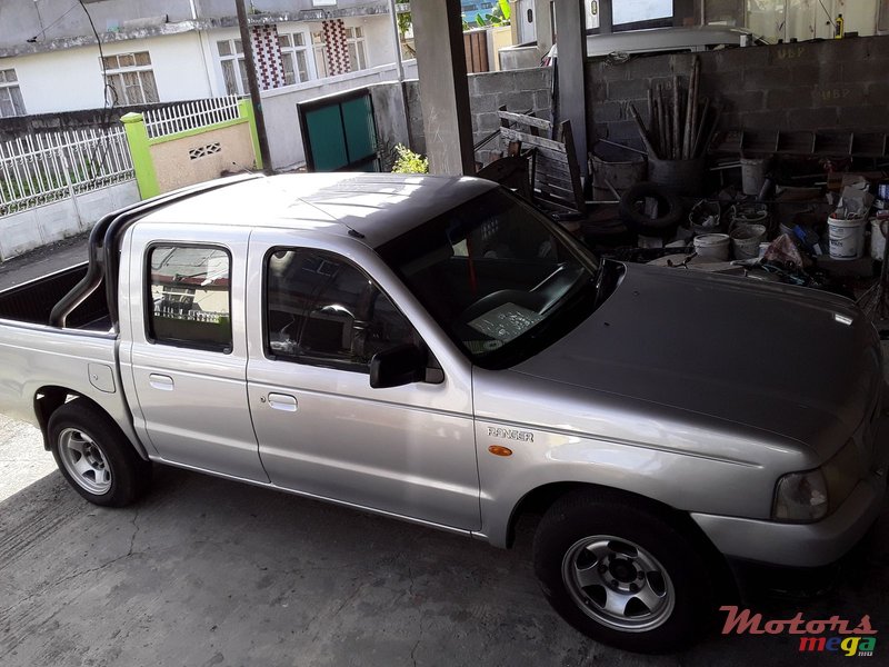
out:
<path id="1" fill-rule="evenodd" d="M 587 176 L 587 14 L 583 0 L 556 0 L 559 120 L 570 120 L 581 176 Z"/>

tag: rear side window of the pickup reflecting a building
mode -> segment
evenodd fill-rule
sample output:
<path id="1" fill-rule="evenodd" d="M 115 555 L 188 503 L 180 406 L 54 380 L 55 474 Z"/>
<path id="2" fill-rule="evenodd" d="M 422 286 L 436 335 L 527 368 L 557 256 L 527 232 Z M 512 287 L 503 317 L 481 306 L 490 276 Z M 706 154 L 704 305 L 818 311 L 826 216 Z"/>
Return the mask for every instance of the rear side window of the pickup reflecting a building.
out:
<path id="1" fill-rule="evenodd" d="M 146 321 L 152 342 L 231 351 L 231 257 L 210 246 L 153 246 Z"/>

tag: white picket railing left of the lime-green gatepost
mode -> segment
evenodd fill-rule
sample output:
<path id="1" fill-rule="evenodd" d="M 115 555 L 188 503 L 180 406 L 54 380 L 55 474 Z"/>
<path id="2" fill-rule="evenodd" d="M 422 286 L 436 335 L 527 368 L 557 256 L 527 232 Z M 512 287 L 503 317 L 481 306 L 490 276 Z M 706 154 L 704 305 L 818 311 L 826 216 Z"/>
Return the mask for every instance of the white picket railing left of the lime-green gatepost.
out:
<path id="1" fill-rule="evenodd" d="M 0 142 L 0 216 L 134 178 L 122 128 Z"/>

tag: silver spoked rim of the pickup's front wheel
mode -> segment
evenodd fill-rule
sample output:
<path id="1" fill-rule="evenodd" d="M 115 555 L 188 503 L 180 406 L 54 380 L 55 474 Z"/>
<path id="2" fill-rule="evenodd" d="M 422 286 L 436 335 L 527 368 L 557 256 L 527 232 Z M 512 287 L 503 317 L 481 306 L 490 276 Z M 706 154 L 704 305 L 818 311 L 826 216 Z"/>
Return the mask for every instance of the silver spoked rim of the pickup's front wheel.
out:
<path id="1" fill-rule="evenodd" d="M 562 559 L 562 580 L 587 616 L 625 633 L 659 627 L 676 604 L 672 581 L 658 559 L 611 535 L 575 542 Z"/>

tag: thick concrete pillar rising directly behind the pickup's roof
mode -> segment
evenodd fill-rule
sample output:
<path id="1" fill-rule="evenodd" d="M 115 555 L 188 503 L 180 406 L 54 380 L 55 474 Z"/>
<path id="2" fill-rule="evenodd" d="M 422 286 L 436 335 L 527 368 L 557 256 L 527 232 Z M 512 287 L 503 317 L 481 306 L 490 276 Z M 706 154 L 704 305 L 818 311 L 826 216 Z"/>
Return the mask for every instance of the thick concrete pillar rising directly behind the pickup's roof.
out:
<path id="1" fill-rule="evenodd" d="M 412 2 L 410 9 L 429 170 L 472 175 L 476 160 L 460 1 Z"/>

